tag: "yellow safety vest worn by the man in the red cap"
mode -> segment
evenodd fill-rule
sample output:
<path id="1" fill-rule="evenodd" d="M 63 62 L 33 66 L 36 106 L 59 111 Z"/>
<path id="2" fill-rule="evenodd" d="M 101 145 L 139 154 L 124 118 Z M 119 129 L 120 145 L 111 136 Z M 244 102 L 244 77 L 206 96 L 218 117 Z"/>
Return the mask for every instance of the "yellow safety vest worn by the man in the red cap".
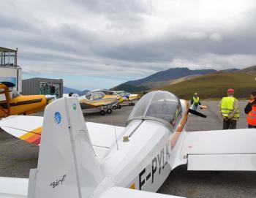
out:
<path id="1" fill-rule="evenodd" d="M 236 98 L 234 98 L 234 97 L 223 97 L 222 98 L 222 105 L 221 105 L 220 109 L 222 111 L 223 117 L 228 117 L 230 115 L 230 113 L 233 112 L 235 100 L 236 100 Z M 239 117 L 240 117 L 240 113 L 239 113 L 239 109 L 238 109 L 237 113 L 234 115 L 234 118 L 239 118 Z"/>

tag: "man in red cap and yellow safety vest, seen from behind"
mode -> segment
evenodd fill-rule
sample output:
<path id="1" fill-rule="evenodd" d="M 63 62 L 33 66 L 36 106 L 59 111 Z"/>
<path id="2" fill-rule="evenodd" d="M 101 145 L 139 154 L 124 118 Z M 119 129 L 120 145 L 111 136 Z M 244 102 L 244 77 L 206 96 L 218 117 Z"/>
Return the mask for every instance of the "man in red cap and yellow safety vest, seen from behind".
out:
<path id="1" fill-rule="evenodd" d="M 223 129 L 236 129 L 236 122 L 240 117 L 238 99 L 233 95 L 233 88 L 227 89 L 227 97 L 219 102 L 219 110 L 223 118 Z"/>

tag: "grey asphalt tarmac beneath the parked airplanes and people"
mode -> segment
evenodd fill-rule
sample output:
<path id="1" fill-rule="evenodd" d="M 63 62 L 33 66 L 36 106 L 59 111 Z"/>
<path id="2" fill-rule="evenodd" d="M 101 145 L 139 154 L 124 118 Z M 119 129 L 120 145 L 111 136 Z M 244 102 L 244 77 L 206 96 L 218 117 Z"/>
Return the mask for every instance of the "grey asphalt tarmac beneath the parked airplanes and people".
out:
<path id="1" fill-rule="evenodd" d="M 222 129 L 222 118 L 218 111 L 219 102 L 203 102 L 207 110 L 198 110 L 207 115 L 200 118 L 190 115 L 187 131 L 207 131 Z M 247 128 L 244 107 L 240 102 L 241 118 L 237 129 Z M 98 113 L 85 115 L 86 121 L 124 126 L 132 107 L 122 107 L 110 115 Z M 42 115 L 42 113 L 38 113 Z M 244 145 L 246 146 L 246 145 Z M 37 167 L 39 148 L 18 140 L 0 130 L 0 176 L 28 178 L 29 170 Z M 187 171 L 187 166 L 173 170 L 159 193 L 182 197 L 256 197 L 256 172 L 213 172 Z"/>

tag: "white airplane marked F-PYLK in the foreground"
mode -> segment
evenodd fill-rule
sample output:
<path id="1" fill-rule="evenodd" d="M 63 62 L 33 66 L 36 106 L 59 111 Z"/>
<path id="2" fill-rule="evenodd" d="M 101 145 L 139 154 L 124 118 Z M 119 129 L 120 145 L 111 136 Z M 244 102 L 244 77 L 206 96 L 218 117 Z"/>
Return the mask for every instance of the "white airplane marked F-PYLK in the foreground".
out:
<path id="1" fill-rule="evenodd" d="M 175 196 L 155 192 L 181 164 L 256 170 L 256 129 L 186 132 L 189 113 L 195 112 L 187 101 L 152 91 L 135 105 L 127 126 L 111 134 L 114 126 L 87 128 L 75 97 L 58 99 L 45 108 L 37 169 L 29 179 L 0 178 L 0 197 L 167 198 Z"/>

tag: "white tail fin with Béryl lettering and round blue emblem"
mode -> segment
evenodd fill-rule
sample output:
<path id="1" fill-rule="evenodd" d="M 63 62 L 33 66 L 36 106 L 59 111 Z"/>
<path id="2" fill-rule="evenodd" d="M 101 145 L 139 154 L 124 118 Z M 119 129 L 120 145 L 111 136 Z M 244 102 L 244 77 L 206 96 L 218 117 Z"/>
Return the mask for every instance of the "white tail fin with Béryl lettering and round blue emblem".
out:
<path id="1" fill-rule="evenodd" d="M 89 197 L 102 181 L 78 99 L 46 107 L 37 171 L 30 179 L 29 197 L 37 198 Z"/>

